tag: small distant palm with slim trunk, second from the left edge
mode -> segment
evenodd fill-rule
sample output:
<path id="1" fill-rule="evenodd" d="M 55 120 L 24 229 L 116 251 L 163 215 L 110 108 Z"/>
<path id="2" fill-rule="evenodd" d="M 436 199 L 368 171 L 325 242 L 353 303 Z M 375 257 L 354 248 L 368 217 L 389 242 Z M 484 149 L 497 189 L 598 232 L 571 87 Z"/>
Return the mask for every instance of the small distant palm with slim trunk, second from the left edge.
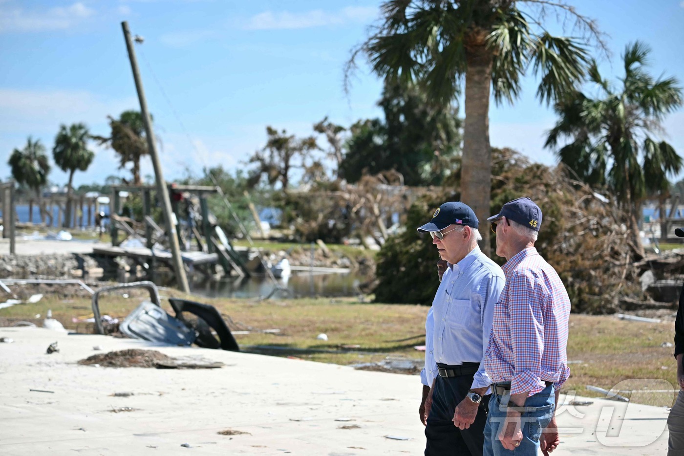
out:
<path id="1" fill-rule="evenodd" d="M 64 212 L 64 227 L 71 226 L 73 212 L 73 180 L 76 170 L 85 171 L 92 163 L 95 153 L 88 150 L 88 127 L 82 123 L 72 124 L 70 127 L 60 125 L 60 132 L 55 138 L 55 147 L 52 156 L 55 164 L 63 171 L 68 171 L 69 182 L 67 186 L 66 211 Z"/>

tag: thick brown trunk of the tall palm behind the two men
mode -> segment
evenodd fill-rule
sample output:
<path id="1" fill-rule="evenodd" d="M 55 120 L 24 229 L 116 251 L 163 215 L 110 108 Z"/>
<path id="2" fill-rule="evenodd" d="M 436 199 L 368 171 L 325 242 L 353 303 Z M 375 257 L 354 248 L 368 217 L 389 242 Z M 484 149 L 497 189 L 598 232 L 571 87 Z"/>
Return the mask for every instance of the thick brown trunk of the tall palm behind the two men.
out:
<path id="1" fill-rule="evenodd" d="M 492 84 L 492 53 L 484 45 L 466 49 L 466 118 L 463 127 L 461 200 L 473 208 L 484 226 L 490 216 L 492 151 L 489 144 L 489 91 Z M 489 255 L 489 230 L 480 229 L 482 251 Z"/>

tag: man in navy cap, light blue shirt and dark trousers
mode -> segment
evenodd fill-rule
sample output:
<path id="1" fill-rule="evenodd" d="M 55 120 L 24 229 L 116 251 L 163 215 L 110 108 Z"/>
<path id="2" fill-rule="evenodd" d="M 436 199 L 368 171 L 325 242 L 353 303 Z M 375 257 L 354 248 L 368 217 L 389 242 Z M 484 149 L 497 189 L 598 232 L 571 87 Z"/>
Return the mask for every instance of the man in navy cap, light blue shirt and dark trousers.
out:
<path id="1" fill-rule="evenodd" d="M 482 455 L 486 405 L 492 383 L 482 357 L 503 271 L 486 257 L 475 212 L 460 201 L 444 203 L 418 231 L 430 233 L 447 269 L 425 323 L 425 455 Z M 428 387 L 429 390 L 428 390 Z M 422 406 L 422 404 L 421 404 Z"/>

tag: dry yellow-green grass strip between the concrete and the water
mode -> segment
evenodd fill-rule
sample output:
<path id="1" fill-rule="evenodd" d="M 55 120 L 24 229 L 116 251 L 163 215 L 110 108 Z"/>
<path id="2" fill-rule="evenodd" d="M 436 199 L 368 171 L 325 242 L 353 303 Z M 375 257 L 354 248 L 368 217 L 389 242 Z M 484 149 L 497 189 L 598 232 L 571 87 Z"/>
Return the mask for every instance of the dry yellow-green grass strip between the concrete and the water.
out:
<path id="1" fill-rule="evenodd" d="M 129 298 L 120 294 L 103 298 L 101 314 L 123 318 L 146 296 L 144 292 L 129 294 Z M 183 297 L 174 290 L 163 294 Z M 428 307 L 367 304 L 355 298 L 269 301 L 188 298 L 217 307 L 231 329 L 251 331 L 235 336 L 243 351 L 343 365 L 379 362 L 387 356 L 423 358 L 423 353 L 413 347 L 425 343 Z M 162 305 L 172 313 L 167 301 Z M 10 317 L 31 318 L 35 314 L 42 314 L 44 318 L 47 309 L 52 309 L 53 317 L 65 327 L 88 330 L 83 323 L 72 323 L 71 318 L 91 314 L 90 296 L 65 299 L 59 294 L 46 294 L 36 304 L 0 309 L 0 321 Z M 263 329 L 280 329 L 280 333 L 259 332 Z M 319 333 L 326 333 L 328 340 L 317 339 Z M 673 338 L 673 321 L 643 323 L 618 320 L 614 316 L 573 314 L 568 340 L 571 375 L 563 390 L 574 390 L 582 396 L 601 396 L 587 390 L 586 385 L 610 390 L 620 382 L 624 382 L 620 383 L 620 389 L 674 390 L 677 384 L 674 349 L 662 346 L 671 343 Z M 360 348 L 343 348 L 357 344 Z M 646 391 L 633 393 L 633 401 L 672 405 L 674 393 Z"/>

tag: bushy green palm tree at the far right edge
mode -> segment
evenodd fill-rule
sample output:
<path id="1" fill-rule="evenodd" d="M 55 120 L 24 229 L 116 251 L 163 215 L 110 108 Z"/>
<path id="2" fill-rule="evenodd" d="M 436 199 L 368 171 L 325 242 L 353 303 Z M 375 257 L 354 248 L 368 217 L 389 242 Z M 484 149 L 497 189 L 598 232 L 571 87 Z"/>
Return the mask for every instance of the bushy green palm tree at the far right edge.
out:
<path id="1" fill-rule="evenodd" d="M 561 161 L 579 179 L 604 186 L 628 214 L 627 225 L 637 255 L 644 255 L 638 221 L 648 194 L 666 194 L 668 175 L 682 169 L 682 159 L 668 142 L 654 139 L 663 117 L 682 105 L 682 89 L 674 77 L 654 79 L 646 72 L 650 48 L 627 45 L 624 77 L 617 88 L 603 79 L 592 62 L 590 80 L 599 90 L 592 98 L 577 92 L 559 103 L 559 119 L 549 131 L 546 147 L 557 149 Z"/>

